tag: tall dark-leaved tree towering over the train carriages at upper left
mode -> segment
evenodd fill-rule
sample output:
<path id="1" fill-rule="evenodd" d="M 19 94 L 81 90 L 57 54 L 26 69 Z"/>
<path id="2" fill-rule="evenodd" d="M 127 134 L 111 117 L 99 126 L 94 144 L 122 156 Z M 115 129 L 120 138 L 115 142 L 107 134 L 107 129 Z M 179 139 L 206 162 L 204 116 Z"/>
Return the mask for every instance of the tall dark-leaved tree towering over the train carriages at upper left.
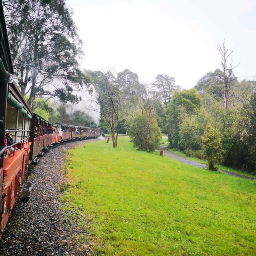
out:
<path id="1" fill-rule="evenodd" d="M 65 0 L 5 0 L 15 76 L 34 109 L 34 99 L 78 102 L 74 88 L 88 78 L 79 69 L 82 41 Z"/>

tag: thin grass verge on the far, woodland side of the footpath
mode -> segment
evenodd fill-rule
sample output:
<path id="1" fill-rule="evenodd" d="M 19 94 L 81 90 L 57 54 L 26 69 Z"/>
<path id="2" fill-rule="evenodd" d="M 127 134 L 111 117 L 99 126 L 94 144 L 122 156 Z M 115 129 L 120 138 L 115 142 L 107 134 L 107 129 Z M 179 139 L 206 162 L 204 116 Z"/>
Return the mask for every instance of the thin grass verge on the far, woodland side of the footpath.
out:
<path id="1" fill-rule="evenodd" d="M 168 137 L 163 136 L 162 142 L 167 144 L 168 143 Z M 183 156 L 183 157 L 188 158 L 190 160 L 193 160 L 195 162 L 198 162 L 198 163 L 201 163 L 201 164 L 206 164 L 206 165 L 208 164 L 207 161 L 205 161 L 205 160 L 195 158 L 195 157 L 186 156 L 186 154 L 184 154 L 183 152 L 181 152 L 179 150 L 174 150 L 172 148 L 166 148 L 166 149 L 169 150 L 170 152 L 173 152 L 173 153 L 175 153 L 179 156 Z M 256 178 L 256 171 L 255 172 L 246 172 L 246 171 L 234 169 L 232 167 L 224 166 L 222 164 L 216 164 L 216 167 L 218 167 L 218 169 L 225 170 L 225 171 L 228 171 L 228 172 L 234 172 L 234 173 L 237 173 L 237 174 L 246 175 L 246 176 Z"/>

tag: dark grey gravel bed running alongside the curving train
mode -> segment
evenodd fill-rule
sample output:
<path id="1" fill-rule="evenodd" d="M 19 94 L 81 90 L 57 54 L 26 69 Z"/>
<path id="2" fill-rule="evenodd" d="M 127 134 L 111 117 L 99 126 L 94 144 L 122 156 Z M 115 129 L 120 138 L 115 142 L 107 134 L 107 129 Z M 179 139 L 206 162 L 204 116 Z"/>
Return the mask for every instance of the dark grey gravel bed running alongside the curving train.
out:
<path id="1" fill-rule="evenodd" d="M 97 139 L 95 139 L 97 140 Z M 77 214 L 61 209 L 60 187 L 66 184 L 62 173 L 65 152 L 92 140 L 75 141 L 53 147 L 36 166 L 30 166 L 28 180 L 32 195 L 27 203 L 18 202 L 0 241 L 0 255 L 93 255 L 92 239 L 77 242 Z M 89 241 L 90 240 L 90 241 Z"/>

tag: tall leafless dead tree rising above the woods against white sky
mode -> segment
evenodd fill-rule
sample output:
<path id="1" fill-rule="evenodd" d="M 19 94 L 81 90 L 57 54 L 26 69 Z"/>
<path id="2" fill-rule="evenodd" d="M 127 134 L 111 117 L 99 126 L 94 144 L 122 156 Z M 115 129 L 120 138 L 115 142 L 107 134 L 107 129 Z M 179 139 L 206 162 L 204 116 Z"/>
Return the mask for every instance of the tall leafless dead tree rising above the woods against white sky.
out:
<path id="1" fill-rule="evenodd" d="M 228 49 L 225 48 L 225 40 L 222 43 L 218 43 L 217 45 L 217 50 L 221 55 L 221 65 L 222 65 L 222 71 L 223 71 L 223 77 L 220 77 L 223 81 L 223 85 L 224 85 L 224 109 L 227 112 L 228 111 L 228 99 L 234 95 L 234 94 L 230 94 L 229 95 L 229 91 L 231 88 L 231 82 L 236 80 L 238 77 L 232 77 L 233 74 L 233 69 L 236 68 L 238 65 L 232 67 L 233 61 L 231 58 L 231 62 L 228 65 L 227 61 L 228 58 L 230 57 L 230 55 L 233 53 L 233 51 L 231 51 L 230 53 L 228 53 Z"/>

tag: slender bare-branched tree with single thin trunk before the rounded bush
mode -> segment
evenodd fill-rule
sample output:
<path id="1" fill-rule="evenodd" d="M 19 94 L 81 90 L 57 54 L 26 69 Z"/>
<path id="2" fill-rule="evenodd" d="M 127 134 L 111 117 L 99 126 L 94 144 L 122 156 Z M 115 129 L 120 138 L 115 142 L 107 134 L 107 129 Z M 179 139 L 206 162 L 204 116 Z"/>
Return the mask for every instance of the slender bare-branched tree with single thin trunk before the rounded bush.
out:
<path id="1" fill-rule="evenodd" d="M 142 114 L 146 114 L 147 117 L 147 138 L 146 138 L 146 149 L 147 152 L 149 152 L 149 132 L 150 132 L 150 125 L 152 122 L 153 114 L 154 114 L 154 107 L 156 105 L 156 102 L 160 99 L 162 95 L 161 91 L 152 91 L 150 90 L 149 86 L 148 88 L 146 86 L 143 86 L 141 89 L 140 94 L 136 95 L 139 107 L 142 111 Z"/>

